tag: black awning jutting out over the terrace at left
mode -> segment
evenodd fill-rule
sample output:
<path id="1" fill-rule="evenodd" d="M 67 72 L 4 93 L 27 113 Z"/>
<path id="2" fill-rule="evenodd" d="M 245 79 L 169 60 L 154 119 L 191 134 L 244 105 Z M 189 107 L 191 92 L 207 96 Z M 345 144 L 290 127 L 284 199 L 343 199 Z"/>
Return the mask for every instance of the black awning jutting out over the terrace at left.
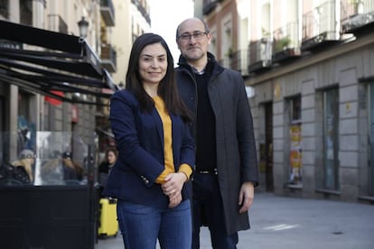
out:
<path id="1" fill-rule="evenodd" d="M 110 97 L 117 90 L 98 56 L 78 36 L 6 21 L 0 21 L 0 30 L 0 84 L 92 105 L 99 103 L 79 99 L 76 94 Z M 74 94 L 60 96 L 55 91 Z"/>

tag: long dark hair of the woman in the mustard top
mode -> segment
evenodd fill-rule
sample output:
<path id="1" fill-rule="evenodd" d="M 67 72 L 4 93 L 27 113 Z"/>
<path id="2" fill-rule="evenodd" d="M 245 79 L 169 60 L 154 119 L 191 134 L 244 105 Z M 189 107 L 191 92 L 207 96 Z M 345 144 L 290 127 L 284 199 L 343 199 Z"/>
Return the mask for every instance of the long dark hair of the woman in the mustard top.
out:
<path id="1" fill-rule="evenodd" d="M 158 34 L 151 32 L 144 33 L 134 42 L 130 53 L 130 59 L 128 60 L 126 90 L 132 92 L 136 96 L 143 111 L 150 112 L 152 110 L 154 100 L 145 92 L 145 88 L 143 87 L 142 78 L 139 74 L 139 58 L 144 48 L 154 43 L 160 43 L 164 47 L 167 56 L 166 74 L 165 77 L 161 79 L 158 86 L 158 95 L 164 99 L 167 112 L 171 112 L 174 115 L 181 115 L 184 121 L 191 122 L 192 114 L 179 97 L 172 53 L 164 39 Z"/>

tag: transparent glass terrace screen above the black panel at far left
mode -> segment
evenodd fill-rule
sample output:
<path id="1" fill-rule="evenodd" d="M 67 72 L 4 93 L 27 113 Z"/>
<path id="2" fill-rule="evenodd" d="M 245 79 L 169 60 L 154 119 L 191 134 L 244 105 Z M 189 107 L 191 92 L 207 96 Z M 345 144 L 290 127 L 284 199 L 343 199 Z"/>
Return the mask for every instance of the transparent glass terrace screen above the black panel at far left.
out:
<path id="1" fill-rule="evenodd" d="M 31 162 L 31 182 L 27 185 L 87 185 L 88 176 L 93 173 L 94 154 L 88 156 L 89 145 L 83 143 L 78 134 L 70 132 L 36 132 L 35 140 L 30 143 L 33 153 L 14 153 L 18 134 L 2 133 L 0 138 L 9 158 L 4 160 L 7 165 L 23 159 L 33 159 Z M 79 143 L 74 143 L 79 140 Z M 74 143 L 74 150 L 72 144 Z M 22 157 L 22 155 L 24 155 Z M 88 160 L 90 158 L 90 160 Z M 3 162 L 2 162 L 3 163 Z M 3 164 L 2 164 L 3 165 Z M 14 165 L 15 166 L 15 165 Z M 0 171 L 0 185 L 14 185 L 17 178 Z M 19 181 L 19 180 L 18 180 Z M 26 185 L 18 182 L 18 185 Z"/>

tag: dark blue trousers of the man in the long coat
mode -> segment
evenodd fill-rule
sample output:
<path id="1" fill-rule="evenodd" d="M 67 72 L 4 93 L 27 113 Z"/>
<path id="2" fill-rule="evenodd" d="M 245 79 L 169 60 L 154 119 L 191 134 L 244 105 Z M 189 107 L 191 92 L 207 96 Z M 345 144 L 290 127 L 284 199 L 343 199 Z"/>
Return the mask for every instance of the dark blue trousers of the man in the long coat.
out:
<path id="1" fill-rule="evenodd" d="M 200 248 L 200 227 L 208 226 L 214 249 L 236 249 L 238 233 L 227 235 L 217 175 L 196 173 L 192 182 L 192 249 Z"/>

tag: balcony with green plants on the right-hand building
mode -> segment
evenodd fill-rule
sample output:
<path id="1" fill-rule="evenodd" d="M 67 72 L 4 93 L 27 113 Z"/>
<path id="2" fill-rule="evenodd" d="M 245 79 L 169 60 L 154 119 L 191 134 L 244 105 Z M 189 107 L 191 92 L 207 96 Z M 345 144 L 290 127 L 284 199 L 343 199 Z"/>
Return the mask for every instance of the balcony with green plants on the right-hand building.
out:
<path id="1" fill-rule="evenodd" d="M 299 23 L 288 23 L 285 27 L 273 32 L 272 60 L 274 62 L 295 59 L 300 55 L 299 27 Z"/>

